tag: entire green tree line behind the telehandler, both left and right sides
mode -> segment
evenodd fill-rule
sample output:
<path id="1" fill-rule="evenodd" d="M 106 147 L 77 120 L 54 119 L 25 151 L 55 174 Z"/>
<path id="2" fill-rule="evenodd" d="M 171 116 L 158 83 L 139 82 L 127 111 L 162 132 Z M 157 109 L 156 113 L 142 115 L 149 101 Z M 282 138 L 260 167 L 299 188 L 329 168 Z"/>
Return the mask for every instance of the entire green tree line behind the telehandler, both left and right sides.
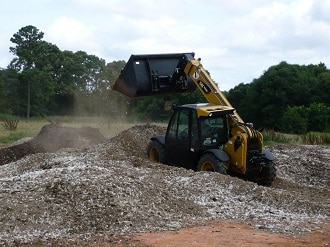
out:
<path id="1" fill-rule="evenodd" d="M 10 39 L 15 58 L 0 70 L 0 114 L 106 115 L 144 121 L 167 121 L 167 102 L 204 102 L 192 93 L 128 98 L 111 90 L 125 61 L 106 63 L 84 51 L 61 51 L 43 40 L 34 26 Z M 329 132 L 330 71 L 325 64 L 281 62 L 251 83 L 224 92 L 246 122 L 288 133 Z"/>

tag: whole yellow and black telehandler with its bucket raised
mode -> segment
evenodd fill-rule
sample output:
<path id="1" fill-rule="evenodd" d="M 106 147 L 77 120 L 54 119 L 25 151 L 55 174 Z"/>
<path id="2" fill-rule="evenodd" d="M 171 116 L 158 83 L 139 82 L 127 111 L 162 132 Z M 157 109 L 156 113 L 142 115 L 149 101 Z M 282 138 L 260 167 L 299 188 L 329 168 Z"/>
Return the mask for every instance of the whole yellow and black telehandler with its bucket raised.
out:
<path id="1" fill-rule="evenodd" d="M 261 131 L 244 123 L 194 56 L 193 52 L 131 55 L 112 87 L 130 97 L 189 92 L 197 87 L 208 101 L 174 106 L 166 135 L 150 139 L 149 158 L 272 185 L 274 156 L 264 148 Z"/>

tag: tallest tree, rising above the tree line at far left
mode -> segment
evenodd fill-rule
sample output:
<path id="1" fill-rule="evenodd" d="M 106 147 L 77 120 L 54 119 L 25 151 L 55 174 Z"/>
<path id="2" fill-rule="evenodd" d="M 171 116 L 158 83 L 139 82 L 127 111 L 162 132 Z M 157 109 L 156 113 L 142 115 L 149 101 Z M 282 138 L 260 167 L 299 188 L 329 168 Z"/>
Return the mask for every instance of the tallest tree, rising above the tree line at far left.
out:
<path id="1" fill-rule="evenodd" d="M 59 109 L 57 103 L 62 99 L 59 95 L 62 93 L 60 85 L 63 78 L 64 56 L 56 45 L 43 41 L 43 35 L 43 32 L 34 26 L 26 26 L 11 38 L 16 46 L 10 47 L 10 51 L 17 57 L 11 61 L 9 67 L 21 73 L 21 89 L 27 93 L 20 94 L 27 99 L 28 118 L 31 109 L 32 115 L 56 112 Z M 40 93 L 42 89 L 44 91 Z"/>

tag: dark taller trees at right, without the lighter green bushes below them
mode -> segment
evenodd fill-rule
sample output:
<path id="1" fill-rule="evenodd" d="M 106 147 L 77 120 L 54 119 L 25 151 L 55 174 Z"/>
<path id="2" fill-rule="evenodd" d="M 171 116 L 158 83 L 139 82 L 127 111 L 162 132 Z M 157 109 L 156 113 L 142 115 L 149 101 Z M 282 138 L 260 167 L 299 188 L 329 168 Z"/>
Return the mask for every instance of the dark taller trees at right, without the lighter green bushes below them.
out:
<path id="1" fill-rule="evenodd" d="M 329 94 L 330 71 L 324 64 L 305 66 L 281 62 L 250 84 L 240 84 L 230 90 L 228 98 L 245 121 L 254 122 L 256 127 L 284 131 L 285 126 L 279 120 L 288 107 L 312 103 L 329 105 Z"/>

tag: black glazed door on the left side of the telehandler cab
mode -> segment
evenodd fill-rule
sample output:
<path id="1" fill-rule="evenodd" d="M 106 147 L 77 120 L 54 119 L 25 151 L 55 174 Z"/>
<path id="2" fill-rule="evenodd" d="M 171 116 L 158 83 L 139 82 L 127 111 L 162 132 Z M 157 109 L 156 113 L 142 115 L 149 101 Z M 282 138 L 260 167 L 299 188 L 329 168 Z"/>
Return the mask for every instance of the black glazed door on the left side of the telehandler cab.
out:
<path id="1" fill-rule="evenodd" d="M 198 138 L 195 114 L 191 109 L 175 109 L 165 139 L 169 163 L 187 169 L 196 168 L 196 154 L 192 149 L 192 143 Z"/>

